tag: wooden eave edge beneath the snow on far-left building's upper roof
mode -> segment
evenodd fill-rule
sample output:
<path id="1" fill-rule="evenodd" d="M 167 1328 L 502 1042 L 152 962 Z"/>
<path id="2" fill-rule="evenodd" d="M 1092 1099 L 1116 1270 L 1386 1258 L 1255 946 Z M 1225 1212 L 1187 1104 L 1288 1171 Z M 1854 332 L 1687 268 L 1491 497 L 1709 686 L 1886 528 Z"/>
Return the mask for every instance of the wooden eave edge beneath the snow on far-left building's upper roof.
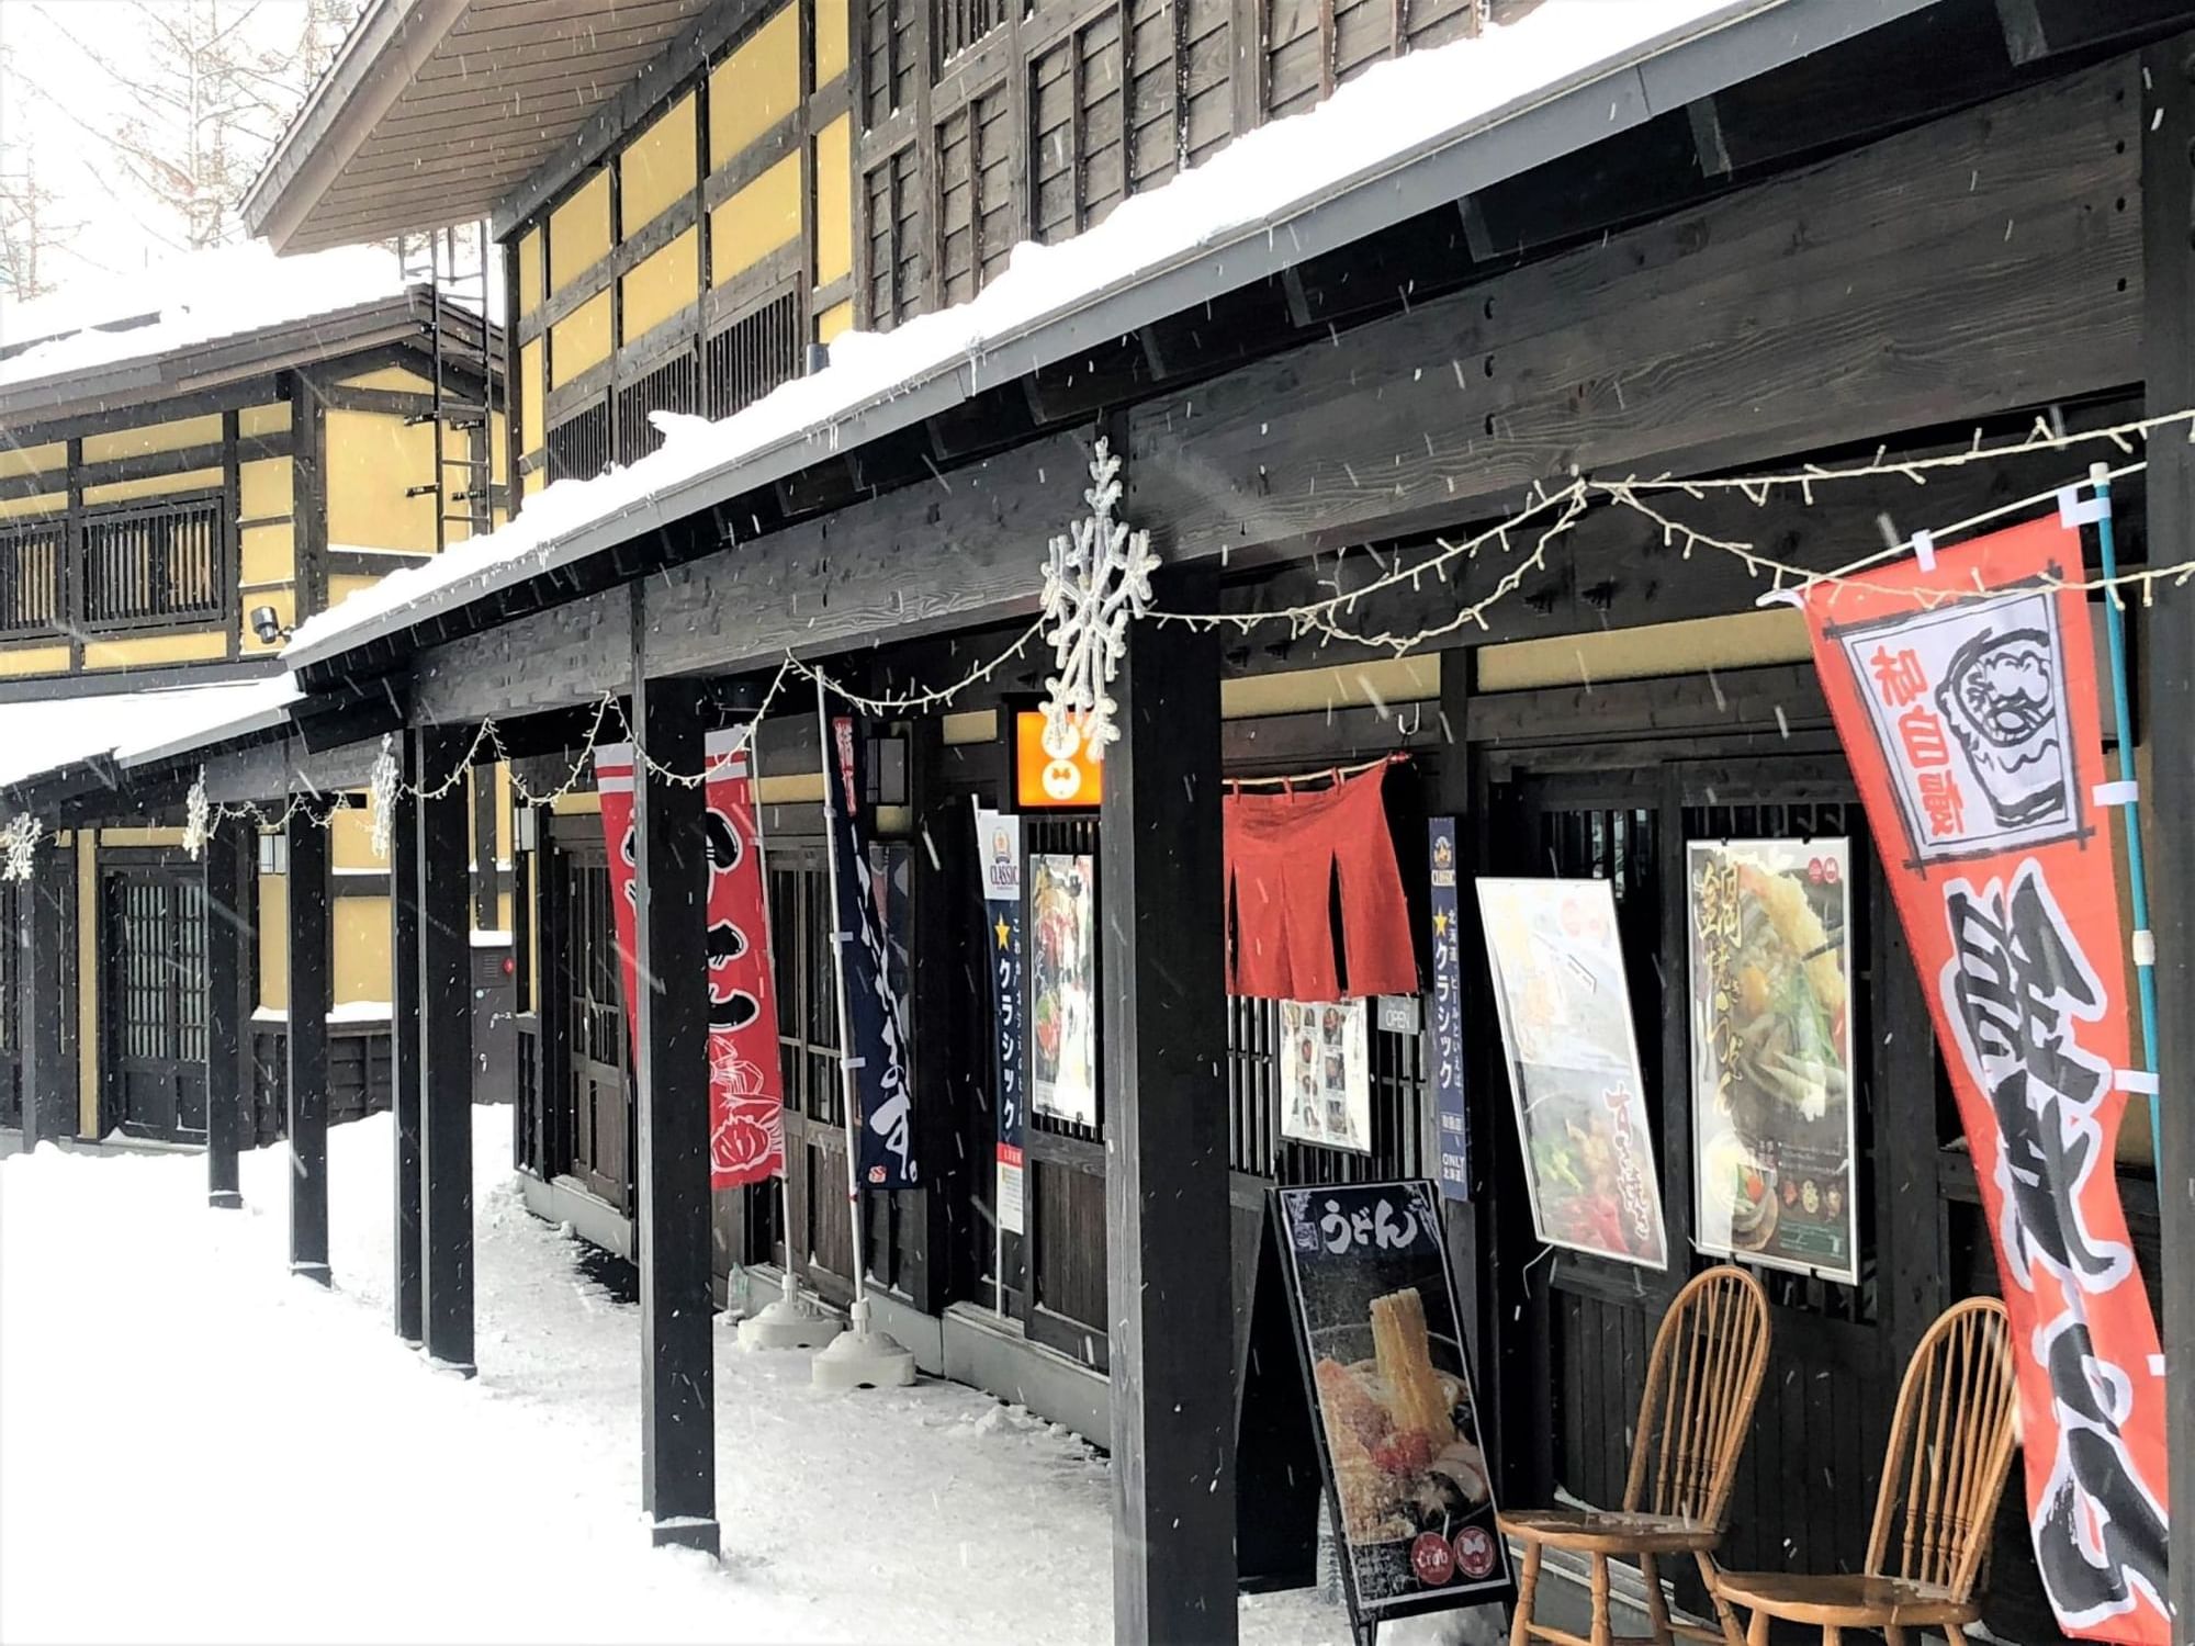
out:
<path id="1" fill-rule="evenodd" d="M 224 388 L 283 367 L 340 360 L 384 345 L 421 345 L 426 327 L 428 298 L 419 288 L 307 320 L 13 382 L 0 386 L 0 424 L 22 428 L 108 413 L 116 406 Z"/>

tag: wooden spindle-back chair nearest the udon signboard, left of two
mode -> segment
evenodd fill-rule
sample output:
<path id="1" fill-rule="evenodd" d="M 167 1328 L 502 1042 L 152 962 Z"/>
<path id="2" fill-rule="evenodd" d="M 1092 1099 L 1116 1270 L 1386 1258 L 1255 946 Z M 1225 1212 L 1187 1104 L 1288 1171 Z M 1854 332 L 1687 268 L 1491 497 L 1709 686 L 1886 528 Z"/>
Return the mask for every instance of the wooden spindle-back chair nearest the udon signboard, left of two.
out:
<path id="1" fill-rule="evenodd" d="M 1670 1631 L 1721 1646 L 1743 1646 L 1738 1620 L 1716 1600 L 1721 1633 L 1670 1624 L 1655 1560 L 1690 1554 L 1714 1596 L 1710 1552 L 1723 1538 L 1738 1451 L 1760 1398 L 1769 1363 L 1769 1299 L 1743 1269 L 1721 1264 L 1695 1275 L 1653 1339 L 1646 1394 L 1631 1438 L 1631 1477 L 1620 1510 L 1521 1510 L 1504 1514 L 1501 1530 L 1523 1543 L 1523 1578 L 1510 1646 L 1552 1639 L 1558 1646 L 1611 1646 L 1609 1556 L 1629 1556 L 1646 1578 L 1646 1615 L 1655 1646 L 1670 1646 Z M 1576 1549 L 1591 1560 L 1591 1639 L 1532 1622 L 1532 1591 L 1547 1547 Z"/>

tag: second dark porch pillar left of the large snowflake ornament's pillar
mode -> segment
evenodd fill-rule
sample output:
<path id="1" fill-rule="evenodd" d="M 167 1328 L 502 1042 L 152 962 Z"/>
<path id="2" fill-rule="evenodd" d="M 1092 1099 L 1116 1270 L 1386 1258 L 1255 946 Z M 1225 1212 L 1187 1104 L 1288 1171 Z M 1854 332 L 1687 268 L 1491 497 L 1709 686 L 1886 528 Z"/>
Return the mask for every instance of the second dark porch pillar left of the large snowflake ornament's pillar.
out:
<path id="1" fill-rule="evenodd" d="M 413 733 L 419 924 L 419 1312 L 426 1352 L 472 1376 L 472 821 L 468 729 Z"/>

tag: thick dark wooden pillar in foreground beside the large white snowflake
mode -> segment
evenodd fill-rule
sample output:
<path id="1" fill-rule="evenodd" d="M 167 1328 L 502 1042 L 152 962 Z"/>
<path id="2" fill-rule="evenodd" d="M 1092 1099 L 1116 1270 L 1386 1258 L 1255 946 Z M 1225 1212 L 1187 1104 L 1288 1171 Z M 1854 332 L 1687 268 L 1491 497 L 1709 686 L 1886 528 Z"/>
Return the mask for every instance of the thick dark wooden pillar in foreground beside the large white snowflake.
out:
<path id="1" fill-rule="evenodd" d="M 1209 577 L 1170 601 L 1207 610 Z M 1218 639 L 1137 625 L 1098 887 L 1113 1639 L 1236 1639 Z"/>

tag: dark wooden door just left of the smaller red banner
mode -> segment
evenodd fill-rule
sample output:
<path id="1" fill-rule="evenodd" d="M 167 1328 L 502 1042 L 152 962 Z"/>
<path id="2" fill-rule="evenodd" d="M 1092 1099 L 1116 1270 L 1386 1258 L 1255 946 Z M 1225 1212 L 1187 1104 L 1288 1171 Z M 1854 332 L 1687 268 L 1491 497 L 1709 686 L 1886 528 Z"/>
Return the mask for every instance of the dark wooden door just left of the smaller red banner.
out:
<path id="1" fill-rule="evenodd" d="M 571 1091 L 571 1176 L 619 1211 L 632 1209 L 632 1058 L 617 957 L 608 854 L 560 852 L 560 913 L 566 935 L 564 1023 Z"/>

